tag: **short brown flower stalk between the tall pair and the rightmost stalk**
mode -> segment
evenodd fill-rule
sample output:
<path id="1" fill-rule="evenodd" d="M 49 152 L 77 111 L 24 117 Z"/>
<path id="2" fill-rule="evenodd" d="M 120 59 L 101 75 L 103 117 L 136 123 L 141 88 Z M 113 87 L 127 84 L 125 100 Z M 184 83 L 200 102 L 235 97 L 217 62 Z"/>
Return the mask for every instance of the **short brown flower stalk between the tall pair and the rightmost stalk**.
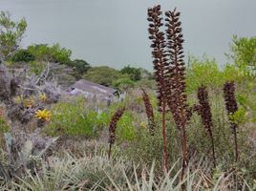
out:
<path id="1" fill-rule="evenodd" d="M 205 86 L 201 86 L 198 89 L 198 99 L 199 99 L 199 105 L 195 105 L 194 110 L 202 117 L 203 126 L 211 140 L 213 165 L 214 167 L 216 167 L 212 114 L 211 114 L 211 108 L 209 104 L 208 92 L 206 91 Z"/>

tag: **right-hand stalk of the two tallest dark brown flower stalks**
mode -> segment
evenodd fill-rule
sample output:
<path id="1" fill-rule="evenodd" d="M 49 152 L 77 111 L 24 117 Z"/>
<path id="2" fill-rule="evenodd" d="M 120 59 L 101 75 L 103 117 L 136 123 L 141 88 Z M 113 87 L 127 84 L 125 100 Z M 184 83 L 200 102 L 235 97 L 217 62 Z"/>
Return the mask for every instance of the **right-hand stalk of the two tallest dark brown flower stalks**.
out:
<path id="1" fill-rule="evenodd" d="M 166 35 L 167 35 L 167 50 L 166 55 L 169 58 L 169 67 L 166 71 L 168 81 L 167 87 L 167 104 L 173 114 L 177 127 L 181 130 L 181 145 L 182 145 L 182 171 L 181 180 L 183 179 L 184 170 L 187 166 L 187 104 L 185 95 L 185 63 L 183 61 L 183 35 L 181 33 L 181 21 L 179 21 L 180 12 L 166 11 Z"/>

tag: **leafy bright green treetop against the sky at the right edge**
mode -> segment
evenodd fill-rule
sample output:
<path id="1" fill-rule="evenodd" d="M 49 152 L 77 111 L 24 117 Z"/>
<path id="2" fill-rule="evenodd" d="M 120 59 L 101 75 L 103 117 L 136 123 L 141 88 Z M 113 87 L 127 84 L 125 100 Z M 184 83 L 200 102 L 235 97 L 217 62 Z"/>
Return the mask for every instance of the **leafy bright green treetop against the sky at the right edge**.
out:
<path id="1" fill-rule="evenodd" d="M 247 74 L 255 74 L 256 72 L 256 36 L 254 37 L 238 37 L 233 36 L 230 44 L 230 54 L 235 65 L 243 69 Z"/>

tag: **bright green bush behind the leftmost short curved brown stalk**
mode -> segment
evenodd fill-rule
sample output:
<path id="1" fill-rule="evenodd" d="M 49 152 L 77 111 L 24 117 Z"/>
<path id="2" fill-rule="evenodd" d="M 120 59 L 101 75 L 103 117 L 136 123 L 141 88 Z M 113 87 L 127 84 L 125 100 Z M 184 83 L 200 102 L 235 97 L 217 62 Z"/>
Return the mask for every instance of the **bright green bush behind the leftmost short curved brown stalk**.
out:
<path id="1" fill-rule="evenodd" d="M 46 127 L 46 134 L 65 137 L 95 138 L 102 130 L 108 129 L 110 119 L 117 105 L 109 110 L 96 112 L 80 97 L 70 102 L 58 102 L 51 109 L 52 120 Z M 117 142 L 135 137 L 132 114 L 127 112 L 117 123 Z"/>

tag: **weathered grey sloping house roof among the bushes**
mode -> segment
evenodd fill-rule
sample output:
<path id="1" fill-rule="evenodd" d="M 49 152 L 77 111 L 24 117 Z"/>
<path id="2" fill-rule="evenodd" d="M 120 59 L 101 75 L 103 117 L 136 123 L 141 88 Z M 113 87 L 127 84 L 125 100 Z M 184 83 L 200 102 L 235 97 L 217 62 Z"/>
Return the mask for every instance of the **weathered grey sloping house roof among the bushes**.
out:
<path id="1" fill-rule="evenodd" d="M 75 84 L 71 86 L 71 88 L 75 88 L 83 92 L 92 93 L 94 95 L 112 96 L 117 93 L 117 90 L 114 88 L 102 86 L 100 84 L 96 84 L 92 81 L 88 81 L 85 79 L 80 79 L 76 81 Z"/>

